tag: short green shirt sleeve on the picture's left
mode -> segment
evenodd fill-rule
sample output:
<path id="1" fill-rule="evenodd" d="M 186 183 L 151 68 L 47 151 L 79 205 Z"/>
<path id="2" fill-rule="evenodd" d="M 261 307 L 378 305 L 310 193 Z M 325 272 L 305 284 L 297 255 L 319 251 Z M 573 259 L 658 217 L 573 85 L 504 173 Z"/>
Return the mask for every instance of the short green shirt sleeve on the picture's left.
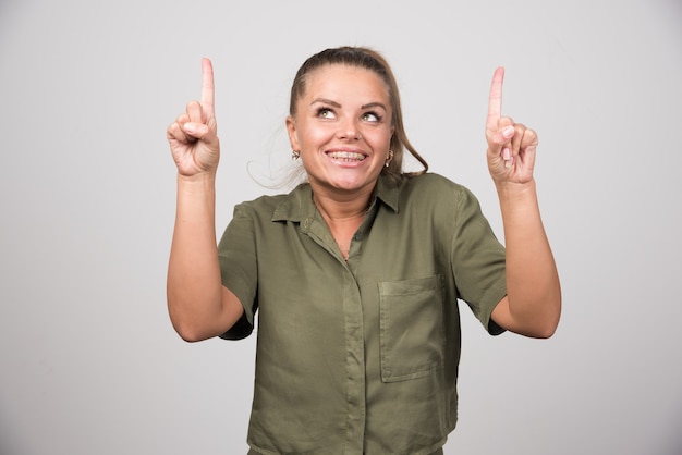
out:
<path id="1" fill-rule="evenodd" d="M 242 318 L 220 337 L 241 340 L 254 330 L 258 285 L 254 221 L 243 204 L 234 208 L 232 221 L 222 234 L 218 244 L 218 259 L 222 285 L 232 291 L 244 307 Z"/>

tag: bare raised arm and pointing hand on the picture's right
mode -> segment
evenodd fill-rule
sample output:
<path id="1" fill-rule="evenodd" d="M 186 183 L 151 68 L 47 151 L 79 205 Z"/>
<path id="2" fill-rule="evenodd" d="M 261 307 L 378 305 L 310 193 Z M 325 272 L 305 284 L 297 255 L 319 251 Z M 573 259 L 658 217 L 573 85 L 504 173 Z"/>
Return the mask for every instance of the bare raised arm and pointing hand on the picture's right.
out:
<path id="1" fill-rule="evenodd" d="M 507 296 L 491 317 L 512 332 L 549 337 L 559 324 L 561 287 L 533 177 L 538 139 L 533 130 L 501 115 L 503 78 L 500 67 L 492 77 L 486 120 L 488 169 L 500 200 L 507 248 Z"/>

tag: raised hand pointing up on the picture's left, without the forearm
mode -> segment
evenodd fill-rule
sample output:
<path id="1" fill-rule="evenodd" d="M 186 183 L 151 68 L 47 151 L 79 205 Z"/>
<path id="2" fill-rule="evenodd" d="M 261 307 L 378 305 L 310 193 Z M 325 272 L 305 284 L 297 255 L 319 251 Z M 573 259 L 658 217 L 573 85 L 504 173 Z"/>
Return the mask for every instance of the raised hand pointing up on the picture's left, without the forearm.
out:
<path id="1" fill-rule="evenodd" d="M 186 112 L 180 114 L 166 131 L 178 172 L 193 176 L 215 172 L 220 158 L 214 110 L 214 66 L 202 60 L 202 100 L 190 101 Z"/>

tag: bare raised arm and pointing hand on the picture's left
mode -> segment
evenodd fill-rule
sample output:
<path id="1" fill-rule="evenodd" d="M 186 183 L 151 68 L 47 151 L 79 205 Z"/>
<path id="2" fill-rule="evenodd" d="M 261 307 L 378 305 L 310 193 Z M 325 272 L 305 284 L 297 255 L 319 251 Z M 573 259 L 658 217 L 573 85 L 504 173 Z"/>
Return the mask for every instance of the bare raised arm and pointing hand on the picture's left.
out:
<path id="1" fill-rule="evenodd" d="M 228 331 L 243 315 L 239 298 L 222 285 L 216 245 L 216 170 L 220 142 L 214 110 L 214 71 L 202 62 L 202 100 L 187 103 L 167 131 L 178 167 L 175 228 L 168 265 L 168 311 L 185 341 Z"/>

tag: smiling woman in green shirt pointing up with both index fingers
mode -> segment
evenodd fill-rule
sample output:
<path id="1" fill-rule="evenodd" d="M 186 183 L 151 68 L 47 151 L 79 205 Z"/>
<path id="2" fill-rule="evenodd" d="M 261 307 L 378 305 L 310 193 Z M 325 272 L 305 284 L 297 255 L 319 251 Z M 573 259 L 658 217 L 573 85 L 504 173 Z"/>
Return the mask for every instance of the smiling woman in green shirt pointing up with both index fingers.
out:
<path id="1" fill-rule="evenodd" d="M 211 64 L 200 102 L 168 128 L 178 211 L 168 275 L 187 341 L 258 348 L 252 454 L 440 454 L 456 422 L 460 321 L 548 337 L 561 294 L 539 216 L 537 135 L 501 115 L 490 89 L 488 167 L 503 248 L 462 186 L 426 173 L 402 124 L 395 79 L 365 48 L 327 49 L 292 86 L 287 130 L 307 183 L 239 205 L 215 233 L 219 140 Z M 404 151 L 425 171 L 402 171 Z"/>

